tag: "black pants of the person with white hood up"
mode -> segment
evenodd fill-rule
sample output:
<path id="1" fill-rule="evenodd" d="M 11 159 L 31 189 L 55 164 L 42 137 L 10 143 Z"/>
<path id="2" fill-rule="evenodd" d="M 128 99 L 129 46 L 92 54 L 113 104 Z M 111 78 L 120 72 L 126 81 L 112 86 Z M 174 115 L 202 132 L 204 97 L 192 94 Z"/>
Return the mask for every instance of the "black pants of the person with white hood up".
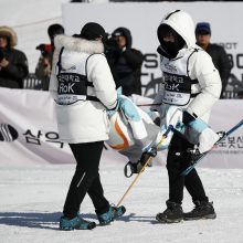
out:
<path id="1" fill-rule="evenodd" d="M 190 165 L 191 154 L 188 148 L 193 145 L 175 134 L 170 142 L 167 156 L 167 170 L 169 176 L 169 201 L 181 204 L 183 199 L 183 187 L 192 197 L 192 201 L 207 201 L 202 182 L 196 169 L 191 170 L 186 177 L 180 176 L 181 172 Z"/>

